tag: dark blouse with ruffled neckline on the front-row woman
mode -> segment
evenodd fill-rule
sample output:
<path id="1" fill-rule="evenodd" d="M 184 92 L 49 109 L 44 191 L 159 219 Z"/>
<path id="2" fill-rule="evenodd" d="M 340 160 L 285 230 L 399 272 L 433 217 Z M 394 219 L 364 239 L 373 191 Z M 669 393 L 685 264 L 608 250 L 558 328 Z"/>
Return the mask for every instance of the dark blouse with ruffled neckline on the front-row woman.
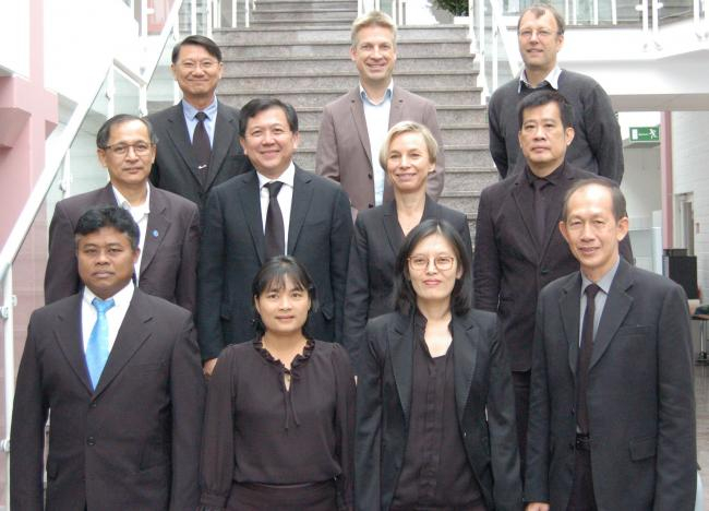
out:
<path id="1" fill-rule="evenodd" d="M 309 341 L 290 371 L 260 340 L 230 345 L 208 387 L 201 503 L 224 508 L 233 483 L 336 478 L 341 508 L 349 508 L 353 429 L 354 378 L 340 345 Z"/>

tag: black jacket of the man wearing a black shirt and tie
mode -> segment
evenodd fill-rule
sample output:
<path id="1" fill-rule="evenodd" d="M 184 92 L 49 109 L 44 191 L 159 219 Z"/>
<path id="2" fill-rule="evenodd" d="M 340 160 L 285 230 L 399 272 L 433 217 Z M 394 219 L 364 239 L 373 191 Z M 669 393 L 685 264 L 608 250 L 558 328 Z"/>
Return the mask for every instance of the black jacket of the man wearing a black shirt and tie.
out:
<path id="1" fill-rule="evenodd" d="M 534 198 L 526 173 L 485 188 L 480 195 L 473 262 L 476 307 L 497 312 L 513 371 L 528 371 L 537 297 L 550 282 L 578 270 L 558 230 L 564 195 L 579 179 L 598 176 L 566 164 L 551 188 L 544 242 L 534 235 Z M 622 245 L 632 261 L 629 241 Z"/>

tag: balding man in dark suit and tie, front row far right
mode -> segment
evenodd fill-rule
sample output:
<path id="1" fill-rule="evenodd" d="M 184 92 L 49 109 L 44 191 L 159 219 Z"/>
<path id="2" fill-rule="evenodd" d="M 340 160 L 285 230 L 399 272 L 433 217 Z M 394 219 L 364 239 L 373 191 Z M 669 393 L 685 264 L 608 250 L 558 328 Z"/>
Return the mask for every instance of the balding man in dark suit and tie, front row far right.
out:
<path id="1" fill-rule="evenodd" d="M 694 510 L 687 298 L 620 258 L 628 218 L 615 183 L 575 183 L 560 229 L 580 271 L 539 297 L 527 510 Z"/>

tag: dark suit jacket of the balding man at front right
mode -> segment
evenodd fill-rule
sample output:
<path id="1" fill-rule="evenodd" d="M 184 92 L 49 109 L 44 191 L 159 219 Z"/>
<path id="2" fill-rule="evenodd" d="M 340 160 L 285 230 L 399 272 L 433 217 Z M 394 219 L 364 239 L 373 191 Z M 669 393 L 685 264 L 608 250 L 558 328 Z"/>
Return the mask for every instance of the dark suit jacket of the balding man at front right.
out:
<path id="1" fill-rule="evenodd" d="M 546 286 L 534 333 L 528 501 L 565 509 L 574 474 L 581 277 Z M 621 260 L 593 342 L 588 414 L 599 510 L 690 511 L 696 492 L 693 345 L 687 298 Z"/>

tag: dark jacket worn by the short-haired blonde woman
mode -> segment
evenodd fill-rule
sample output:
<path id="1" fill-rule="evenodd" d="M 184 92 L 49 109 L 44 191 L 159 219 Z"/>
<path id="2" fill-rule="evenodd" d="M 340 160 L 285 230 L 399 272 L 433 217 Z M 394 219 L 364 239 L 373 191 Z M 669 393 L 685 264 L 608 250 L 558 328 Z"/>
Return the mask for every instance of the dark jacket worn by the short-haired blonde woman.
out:
<path id="1" fill-rule="evenodd" d="M 472 257 L 470 228 L 464 213 L 425 198 L 421 222 L 444 219 L 453 225 Z M 354 222 L 345 295 L 344 344 L 354 367 L 364 343 L 366 320 L 394 311 L 394 264 L 404 243 L 404 233 L 396 216 L 394 201 L 363 210 Z"/>

